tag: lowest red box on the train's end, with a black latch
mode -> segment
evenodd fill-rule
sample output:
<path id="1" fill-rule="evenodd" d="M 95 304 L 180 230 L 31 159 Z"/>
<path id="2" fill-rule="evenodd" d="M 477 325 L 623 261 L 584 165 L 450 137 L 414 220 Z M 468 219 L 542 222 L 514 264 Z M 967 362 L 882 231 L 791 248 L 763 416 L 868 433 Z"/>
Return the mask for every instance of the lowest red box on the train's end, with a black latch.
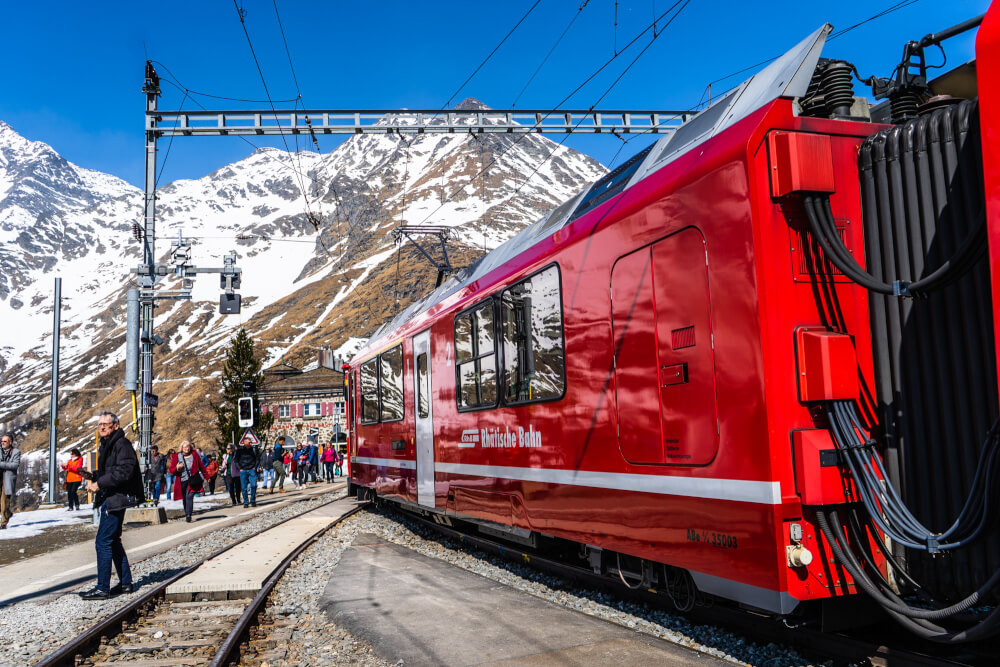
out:
<path id="1" fill-rule="evenodd" d="M 795 457 L 795 491 L 803 505 L 837 505 L 847 502 L 850 476 L 840 465 L 840 455 L 830 432 L 820 429 L 792 432 Z"/>

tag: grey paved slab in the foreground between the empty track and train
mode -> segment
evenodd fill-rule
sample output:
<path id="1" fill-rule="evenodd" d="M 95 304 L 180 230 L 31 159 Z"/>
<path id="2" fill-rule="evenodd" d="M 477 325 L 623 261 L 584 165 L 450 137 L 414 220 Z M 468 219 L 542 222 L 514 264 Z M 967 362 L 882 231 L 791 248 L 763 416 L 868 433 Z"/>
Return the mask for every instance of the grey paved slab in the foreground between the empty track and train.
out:
<path id="1" fill-rule="evenodd" d="M 408 665 L 726 664 L 368 534 L 320 604 L 380 658 Z"/>

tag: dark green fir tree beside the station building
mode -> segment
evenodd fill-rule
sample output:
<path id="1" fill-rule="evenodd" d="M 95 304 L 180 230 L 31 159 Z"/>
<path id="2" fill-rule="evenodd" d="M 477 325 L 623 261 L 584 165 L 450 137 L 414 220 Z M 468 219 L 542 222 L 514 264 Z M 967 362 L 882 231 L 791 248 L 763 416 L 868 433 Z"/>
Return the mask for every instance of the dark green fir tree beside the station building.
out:
<path id="1" fill-rule="evenodd" d="M 226 351 L 226 365 L 222 367 L 222 403 L 215 408 L 215 428 L 218 437 L 215 443 L 222 449 L 226 445 L 239 443 L 243 429 L 240 428 L 237 417 L 237 401 L 246 396 L 243 383 L 253 382 L 256 390 L 250 395 L 254 405 L 260 405 L 257 393 L 264 388 L 263 362 L 254 352 L 253 339 L 246 330 L 240 328 L 232 338 L 229 350 Z M 259 410 L 259 407 L 258 407 Z M 261 445 L 267 444 L 267 432 L 274 423 L 274 415 L 261 414 L 254 426 L 254 432 L 260 438 Z"/>

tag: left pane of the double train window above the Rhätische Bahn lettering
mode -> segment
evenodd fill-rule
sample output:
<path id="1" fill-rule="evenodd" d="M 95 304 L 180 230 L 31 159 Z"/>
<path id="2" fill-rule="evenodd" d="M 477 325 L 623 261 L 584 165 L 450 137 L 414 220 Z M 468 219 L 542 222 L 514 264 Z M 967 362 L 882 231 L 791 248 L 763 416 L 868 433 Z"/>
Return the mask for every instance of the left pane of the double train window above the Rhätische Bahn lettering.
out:
<path id="1" fill-rule="evenodd" d="M 493 300 L 455 317 L 455 377 L 458 408 L 497 403 L 497 353 Z"/>

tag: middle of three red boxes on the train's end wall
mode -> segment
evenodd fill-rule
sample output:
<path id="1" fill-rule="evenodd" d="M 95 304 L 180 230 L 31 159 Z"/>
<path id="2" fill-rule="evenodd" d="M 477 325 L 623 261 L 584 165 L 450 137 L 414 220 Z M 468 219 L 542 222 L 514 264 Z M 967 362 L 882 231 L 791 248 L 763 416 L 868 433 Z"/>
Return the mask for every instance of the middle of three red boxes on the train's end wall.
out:
<path id="1" fill-rule="evenodd" d="M 850 336 L 824 327 L 799 327 L 795 352 L 800 401 L 858 397 L 858 356 Z"/>

